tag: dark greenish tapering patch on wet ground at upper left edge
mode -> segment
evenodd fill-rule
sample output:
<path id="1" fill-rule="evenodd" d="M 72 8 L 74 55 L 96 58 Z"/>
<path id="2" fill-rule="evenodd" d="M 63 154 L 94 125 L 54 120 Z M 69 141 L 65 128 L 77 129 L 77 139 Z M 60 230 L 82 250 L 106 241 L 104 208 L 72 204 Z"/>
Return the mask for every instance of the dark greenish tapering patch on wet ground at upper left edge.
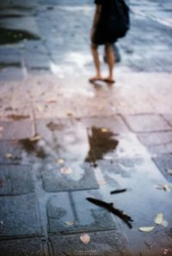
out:
<path id="1" fill-rule="evenodd" d="M 26 30 L 19 29 L 6 29 L 0 27 L 0 45 L 12 44 L 27 40 L 40 40 L 38 35 L 34 35 Z"/>

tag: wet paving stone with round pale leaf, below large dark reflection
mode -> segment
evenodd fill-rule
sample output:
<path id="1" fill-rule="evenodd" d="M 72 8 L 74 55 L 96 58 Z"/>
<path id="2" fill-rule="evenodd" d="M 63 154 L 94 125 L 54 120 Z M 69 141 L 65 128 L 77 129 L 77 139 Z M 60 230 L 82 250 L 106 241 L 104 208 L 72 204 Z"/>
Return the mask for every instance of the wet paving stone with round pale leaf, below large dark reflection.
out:
<path id="1" fill-rule="evenodd" d="M 44 189 L 47 192 L 71 191 L 77 189 L 98 189 L 94 170 L 89 164 L 65 163 L 47 164 L 42 170 Z"/>

